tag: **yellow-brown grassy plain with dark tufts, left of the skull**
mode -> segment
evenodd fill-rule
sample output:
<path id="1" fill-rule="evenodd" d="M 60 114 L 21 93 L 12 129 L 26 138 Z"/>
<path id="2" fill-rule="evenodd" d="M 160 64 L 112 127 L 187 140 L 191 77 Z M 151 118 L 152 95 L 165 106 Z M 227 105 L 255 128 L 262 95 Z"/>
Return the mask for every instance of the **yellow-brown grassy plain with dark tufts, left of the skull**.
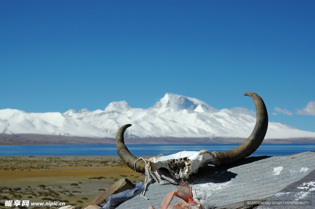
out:
<path id="1" fill-rule="evenodd" d="M 148 157 L 145 157 L 148 158 Z M 128 168 L 119 157 L 7 157 L 0 156 L 0 208 L 6 200 L 65 202 L 78 208 L 93 200 L 117 180 L 136 183 L 145 176 Z"/>

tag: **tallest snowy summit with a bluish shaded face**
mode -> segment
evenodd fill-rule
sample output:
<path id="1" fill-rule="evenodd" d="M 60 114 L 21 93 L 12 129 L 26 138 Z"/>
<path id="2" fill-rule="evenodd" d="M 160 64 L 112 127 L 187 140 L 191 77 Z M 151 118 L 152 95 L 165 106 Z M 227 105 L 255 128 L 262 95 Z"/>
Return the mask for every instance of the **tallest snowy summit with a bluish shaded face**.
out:
<path id="1" fill-rule="evenodd" d="M 172 108 L 174 110 L 193 110 L 195 112 L 217 112 L 218 110 L 211 107 L 208 103 L 196 98 L 182 96 L 178 94 L 166 93 L 165 96 L 157 102 L 153 108 L 166 109 Z"/>

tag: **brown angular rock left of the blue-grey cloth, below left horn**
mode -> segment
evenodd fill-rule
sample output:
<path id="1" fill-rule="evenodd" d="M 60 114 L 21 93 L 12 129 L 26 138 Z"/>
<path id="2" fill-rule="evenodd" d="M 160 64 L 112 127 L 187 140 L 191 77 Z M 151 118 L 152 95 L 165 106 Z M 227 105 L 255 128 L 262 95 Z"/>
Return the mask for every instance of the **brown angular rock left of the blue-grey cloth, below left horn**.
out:
<path id="1" fill-rule="evenodd" d="M 109 187 L 105 192 L 98 195 L 94 200 L 92 200 L 91 202 L 89 202 L 88 204 L 83 206 L 82 209 L 86 208 L 88 206 L 91 206 L 91 205 L 100 206 L 100 203 L 103 203 L 106 201 L 107 195 L 113 195 L 113 194 L 117 194 L 119 192 L 123 192 L 126 190 L 132 190 L 132 189 L 135 189 L 135 184 L 133 184 L 128 179 L 120 179 L 115 184 L 113 184 L 111 187 Z"/>

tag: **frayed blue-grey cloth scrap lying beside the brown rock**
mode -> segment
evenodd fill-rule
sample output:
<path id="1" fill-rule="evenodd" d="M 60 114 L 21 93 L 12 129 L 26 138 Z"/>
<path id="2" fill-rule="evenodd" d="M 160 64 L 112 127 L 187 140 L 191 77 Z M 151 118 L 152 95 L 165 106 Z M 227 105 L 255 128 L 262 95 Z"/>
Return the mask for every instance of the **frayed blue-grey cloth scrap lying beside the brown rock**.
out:
<path id="1" fill-rule="evenodd" d="M 143 188 L 144 185 L 142 184 L 142 182 L 140 182 L 135 186 L 135 189 L 126 190 L 114 195 L 108 195 L 108 197 L 106 198 L 106 203 L 104 203 L 104 205 L 101 204 L 103 206 L 102 209 L 114 209 L 118 207 L 124 201 L 133 198 L 135 192 L 138 190 L 142 190 Z"/>

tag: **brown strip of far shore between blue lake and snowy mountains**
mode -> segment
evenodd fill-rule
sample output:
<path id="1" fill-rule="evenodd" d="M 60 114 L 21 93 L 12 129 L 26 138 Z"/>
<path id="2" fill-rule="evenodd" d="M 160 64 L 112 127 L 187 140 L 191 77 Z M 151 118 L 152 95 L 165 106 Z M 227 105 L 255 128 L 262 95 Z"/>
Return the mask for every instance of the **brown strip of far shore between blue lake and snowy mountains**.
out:
<path id="1" fill-rule="evenodd" d="M 126 144 L 242 144 L 247 138 L 178 138 L 148 137 L 126 138 Z M 315 144 L 315 138 L 265 139 L 263 144 Z M 0 134 L 0 145 L 58 145 L 58 144 L 115 144 L 112 138 L 89 138 L 39 134 Z"/>

